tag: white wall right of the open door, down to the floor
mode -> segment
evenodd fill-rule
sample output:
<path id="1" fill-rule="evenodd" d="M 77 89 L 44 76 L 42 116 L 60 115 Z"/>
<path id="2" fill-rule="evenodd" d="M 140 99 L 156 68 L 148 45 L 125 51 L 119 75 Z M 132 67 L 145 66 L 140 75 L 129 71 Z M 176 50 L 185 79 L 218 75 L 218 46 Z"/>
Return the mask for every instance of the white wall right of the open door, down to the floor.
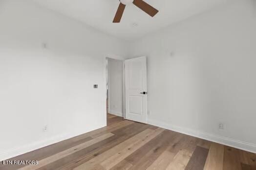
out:
<path id="1" fill-rule="evenodd" d="M 149 123 L 256 152 L 255 0 L 149 34 L 131 56 L 148 56 Z"/>

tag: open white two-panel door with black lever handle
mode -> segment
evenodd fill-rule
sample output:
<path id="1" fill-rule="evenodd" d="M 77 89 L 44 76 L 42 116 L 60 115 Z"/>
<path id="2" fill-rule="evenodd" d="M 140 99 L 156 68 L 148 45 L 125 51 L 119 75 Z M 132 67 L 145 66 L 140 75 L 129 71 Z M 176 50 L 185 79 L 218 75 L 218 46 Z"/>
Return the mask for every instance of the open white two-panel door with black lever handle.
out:
<path id="1" fill-rule="evenodd" d="M 125 119 L 147 123 L 147 59 L 125 61 Z"/>

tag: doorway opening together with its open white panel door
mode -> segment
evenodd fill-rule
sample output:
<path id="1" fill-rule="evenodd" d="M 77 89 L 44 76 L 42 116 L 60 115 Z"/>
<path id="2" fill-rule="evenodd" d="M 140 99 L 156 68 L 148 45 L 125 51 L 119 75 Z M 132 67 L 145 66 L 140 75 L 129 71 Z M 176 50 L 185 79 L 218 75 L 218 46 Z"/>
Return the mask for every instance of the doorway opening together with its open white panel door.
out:
<path id="1" fill-rule="evenodd" d="M 106 57 L 107 114 L 147 123 L 147 58 Z"/>

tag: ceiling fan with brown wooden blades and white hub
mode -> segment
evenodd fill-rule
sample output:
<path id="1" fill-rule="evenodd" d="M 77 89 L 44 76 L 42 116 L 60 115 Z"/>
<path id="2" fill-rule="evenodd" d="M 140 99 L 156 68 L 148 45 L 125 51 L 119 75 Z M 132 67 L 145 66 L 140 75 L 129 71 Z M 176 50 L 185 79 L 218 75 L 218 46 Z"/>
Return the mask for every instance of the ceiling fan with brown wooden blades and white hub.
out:
<path id="1" fill-rule="evenodd" d="M 158 10 L 146 3 L 143 0 L 119 0 L 120 4 L 117 9 L 116 15 L 114 17 L 113 23 L 119 23 L 121 21 L 121 18 L 123 16 L 123 13 L 125 11 L 126 5 L 133 3 L 137 7 L 139 7 L 141 10 L 149 14 L 149 16 L 154 17 L 157 13 Z"/>

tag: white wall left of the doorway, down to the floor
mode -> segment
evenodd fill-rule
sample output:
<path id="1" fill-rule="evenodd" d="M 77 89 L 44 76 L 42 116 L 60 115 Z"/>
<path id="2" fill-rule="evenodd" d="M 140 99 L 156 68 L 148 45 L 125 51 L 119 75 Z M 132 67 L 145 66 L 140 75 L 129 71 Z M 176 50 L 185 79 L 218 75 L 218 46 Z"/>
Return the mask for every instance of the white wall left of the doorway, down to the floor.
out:
<path id="1" fill-rule="evenodd" d="M 29 0 L 0 0 L 0 160 L 106 126 L 104 62 L 126 46 Z"/>

